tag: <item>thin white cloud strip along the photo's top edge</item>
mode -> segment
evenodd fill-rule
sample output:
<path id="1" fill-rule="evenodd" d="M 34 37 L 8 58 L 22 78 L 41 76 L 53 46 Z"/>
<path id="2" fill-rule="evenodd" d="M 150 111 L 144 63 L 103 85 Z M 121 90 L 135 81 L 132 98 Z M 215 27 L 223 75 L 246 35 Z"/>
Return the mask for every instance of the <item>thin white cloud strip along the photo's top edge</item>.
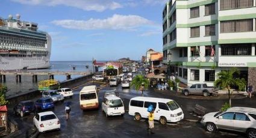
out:
<path id="1" fill-rule="evenodd" d="M 112 0 L 11 0 L 19 2 L 20 4 L 28 5 L 65 5 L 70 7 L 81 8 L 86 11 L 104 11 L 104 10 L 115 10 L 116 8 L 122 8 L 117 2 Z"/>

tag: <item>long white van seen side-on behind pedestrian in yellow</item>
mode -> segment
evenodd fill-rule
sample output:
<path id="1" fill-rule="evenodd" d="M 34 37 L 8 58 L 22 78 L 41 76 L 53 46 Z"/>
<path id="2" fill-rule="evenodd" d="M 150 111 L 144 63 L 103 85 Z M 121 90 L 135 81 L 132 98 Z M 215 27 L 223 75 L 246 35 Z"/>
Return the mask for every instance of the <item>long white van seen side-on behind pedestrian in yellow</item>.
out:
<path id="1" fill-rule="evenodd" d="M 131 98 L 129 104 L 129 115 L 134 116 L 136 120 L 148 118 L 148 107 L 152 105 L 155 109 L 154 120 L 160 124 L 167 122 L 178 122 L 184 118 L 183 110 L 176 103 L 176 101 L 166 98 L 152 98 L 152 97 L 134 97 Z"/>

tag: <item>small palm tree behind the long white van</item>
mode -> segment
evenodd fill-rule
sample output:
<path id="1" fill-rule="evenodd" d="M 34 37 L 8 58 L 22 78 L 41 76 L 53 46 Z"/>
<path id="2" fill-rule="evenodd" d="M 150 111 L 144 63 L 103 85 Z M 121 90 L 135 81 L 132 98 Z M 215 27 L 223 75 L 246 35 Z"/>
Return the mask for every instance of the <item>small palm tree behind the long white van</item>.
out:
<path id="1" fill-rule="evenodd" d="M 131 86 L 134 86 L 136 91 L 142 91 L 143 97 L 143 90 L 148 88 L 149 80 L 139 74 L 136 75 L 134 79 L 131 81 Z"/>

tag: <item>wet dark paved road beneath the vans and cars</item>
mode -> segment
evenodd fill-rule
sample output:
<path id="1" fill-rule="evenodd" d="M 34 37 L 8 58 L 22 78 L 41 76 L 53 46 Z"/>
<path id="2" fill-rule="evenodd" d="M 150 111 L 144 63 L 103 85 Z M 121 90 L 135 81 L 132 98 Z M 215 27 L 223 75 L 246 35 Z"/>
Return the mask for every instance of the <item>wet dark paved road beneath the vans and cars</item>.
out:
<path id="1" fill-rule="evenodd" d="M 92 85 L 87 83 L 86 85 Z M 84 85 L 85 86 L 85 85 Z M 177 124 L 160 125 L 155 122 L 155 134 L 149 135 L 147 133 L 147 123 L 145 120 L 135 121 L 133 116 L 128 115 L 128 102 L 130 98 L 140 96 L 141 93 L 134 91 L 134 89 L 122 89 L 118 86 L 116 89 L 119 91 L 119 97 L 122 98 L 125 104 L 125 115 L 113 116 L 106 118 L 105 113 L 101 111 L 101 104 L 99 110 L 89 110 L 83 112 L 79 105 L 79 92 L 83 88 L 80 86 L 73 90 L 74 96 L 72 99 L 66 99 L 66 101 L 72 101 L 72 111 L 70 112 L 70 120 L 66 121 L 64 114 L 63 103 L 57 103 L 53 110 L 61 122 L 60 131 L 50 131 L 48 133 L 42 133 L 39 137 L 244 137 L 239 134 L 231 134 L 226 132 L 207 133 L 202 125 L 198 122 L 181 121 Z M 105 91 L 110 88 L 105 86 L 99 91 L 99 101 L 102 102 L 102 97 Z M 195 119 L 196 116 L 190 115 L 189 111 L 196 103 L 205 104 L 209 110 L 219 110 L 221 105 L 226 100 L 195 100 L 189 98 L 175 97 L 164 92 L 146 91 L 144 93 L 146 97 L 161 97 L 172 98 L 176 100 L 185 113 L 185 118 Z M 37 97 L 38 98 L 38 97 Z M 36 101 L 37 98 L 33 100 Z M 254 101 L 253 101 L 254 100 Z M 254 106 L 255 98 L 233 100 L 234 106 Z M 255 107 L 255 106 L 254 106 Z M 10 114 L 9 114 L 10 115 Z M 19 128 L 24 130 L 33 126 L 33 114 L 20 118 L 14 116 L 15 120 L 19 124 Z M 24 134 L 20 137 L 25 137 Z"/>

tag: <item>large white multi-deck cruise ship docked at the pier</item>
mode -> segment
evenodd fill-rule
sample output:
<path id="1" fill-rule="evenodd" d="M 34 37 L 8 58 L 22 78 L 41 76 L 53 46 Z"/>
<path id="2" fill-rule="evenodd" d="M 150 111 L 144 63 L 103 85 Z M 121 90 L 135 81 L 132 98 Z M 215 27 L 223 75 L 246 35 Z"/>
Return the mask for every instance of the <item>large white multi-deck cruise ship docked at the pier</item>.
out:
<path id="1" fill-rule="evenodd" d="M 37 23 L 0 17 L 0 70 L 49 68 L 51 36 Z"/>

